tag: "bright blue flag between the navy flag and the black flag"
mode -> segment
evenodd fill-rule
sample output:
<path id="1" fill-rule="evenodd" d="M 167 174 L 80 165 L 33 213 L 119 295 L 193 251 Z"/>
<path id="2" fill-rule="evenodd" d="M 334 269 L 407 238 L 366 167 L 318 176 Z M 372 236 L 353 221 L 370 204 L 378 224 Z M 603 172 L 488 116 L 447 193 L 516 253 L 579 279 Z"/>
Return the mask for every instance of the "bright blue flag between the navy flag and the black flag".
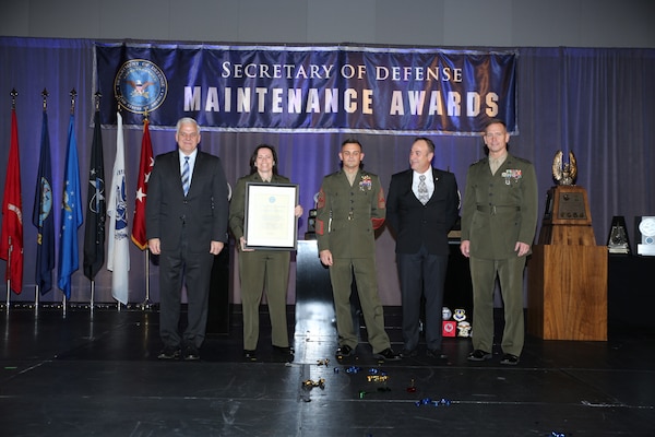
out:
<path id="1" fill-rule="evenodd" d="M 74 116 L 71 115 L 66 152 L 63 197 L 61 200 L 61 231 L 59 233 L 58 286 L 71 298 L 71 276 L 79 269 L 78 228 L 82 226 L 82 198 L 80 194 L 80 163 L 75 141 Z"/>

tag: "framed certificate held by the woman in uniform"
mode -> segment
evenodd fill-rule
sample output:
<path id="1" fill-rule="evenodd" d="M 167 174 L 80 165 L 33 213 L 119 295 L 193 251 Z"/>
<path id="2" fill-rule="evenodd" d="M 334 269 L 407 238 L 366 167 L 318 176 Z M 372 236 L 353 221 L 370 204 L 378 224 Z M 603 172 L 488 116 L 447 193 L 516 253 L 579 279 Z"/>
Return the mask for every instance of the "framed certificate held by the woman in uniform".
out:
<path id="1" fill-rule="evenodd" d="M 246 184 L 246 247 L 295 250 L 298 243 L 297 204 L 298 186 L 295 184 Z"/>

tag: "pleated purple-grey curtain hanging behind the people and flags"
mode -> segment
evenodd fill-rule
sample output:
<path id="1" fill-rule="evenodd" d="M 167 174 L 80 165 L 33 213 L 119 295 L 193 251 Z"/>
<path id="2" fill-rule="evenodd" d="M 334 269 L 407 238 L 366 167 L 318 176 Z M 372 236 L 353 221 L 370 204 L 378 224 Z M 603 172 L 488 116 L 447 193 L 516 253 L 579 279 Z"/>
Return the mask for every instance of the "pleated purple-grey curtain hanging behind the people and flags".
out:
<path id="1" fill-rule="evenodd" d="M 86 199 L 87 172 L 93 139 L 93 40 L 0 38 L 0 180 L 4 181 L 10 144 L 12 88 L 19 92 L 16 114 L 21 153 L 25 272 L 22 295 L 12 300 L 34 300 L 34 259 L 36 229 L 29 217 L 34 202 L 40 143 L 41 91 L 47 88 L 48 118 L 52 153 L 55 205 L 61 204 L 63 161 L 70 114 L 71 90 L 78 92 L 75 126 L 82 179 L 82 199 Z M 479 49 L 479 47 L 471 47 Z M 553 185 L 552 157 L 558 150 L 575 153 L 577 185 L 586 188 L 598 245 L 607 243 L 611 218 L 626 217 L 634 249 L 634 217 L 655 215 L 655 49 L 602 48 L 519 48 L 517 114 L 520 133 L 512 137 L 512 153 L 535 163 L 541 196 Z M 114 98 L 114 96 L 103 96 Z M 3 102 L 3 103 L 2 103 Z M 153 151 L 159 154 L 175 149 L 174 132 L 151 127 Z M 277 147 L 282 174 L 300 185 L 300 202 L 306 211 L 313 208 L 313 196 L 325 174 L 338 168 L 338 147 L 343 134 L 323 133 L 236 133 L 204 132 L 201 147 L 223 160 L 228 181 L 248 173 L 248 160 L 260 143 Z M 142 132 L 126 130 L 126 166 L 130 218 L 141 152 Z M 384 187 L 391 175 L 408 167 L 413 137 L 358 134 L 366 157 L 365 166 L 377 173 Z M 463 190 L 468 165 L 483 155 L 479 138 L 438 135 L 433 164 L 457 177 Z M 109 175 L 116 154 L 116 128 L 103 131 L 105 175 Z M 59 211 L 55 215 L 59 232 Z M 539 224 L 540 226 L 540 224 Z M 300 222 L 299 237 L 307 231 L 307 214 Z M 85 303 L 91 286 L 82 273 L 83 231 L 80 232 L 80 270 L 73 276 L 71 302 Z M 538 234 L 538 228 L 537 228 Z M 145 297 L 145 257 L 131 245 L 131 303 Z M 234 249 L 230 249 L 234 250 Z M 388 229 L 377 245 L 380 294 L 384 305 L 400 305 L 394 240 Z M 234 261 L 234 252 L 233 261 Z M 4 277 L 5 262 L 0 263 Z M 231 300 L 240 302 L 238 273 L 233 270 Z M 56 272 L 56 270 L 55 270 Z M 53 273 L 55 274 L 55 273 Z M 295 264 L 291 267 L 289 303 L 295 300 Z M 157 268 L 152 265 L 151 298 L 158 302 Z M 95 302 L 112 302 L 110 273 L 106 267 L 96 276 Z M 5 290 L 5 287 L 3 287 Z M 61 300 L 53 290 L 43 302 Z"/>

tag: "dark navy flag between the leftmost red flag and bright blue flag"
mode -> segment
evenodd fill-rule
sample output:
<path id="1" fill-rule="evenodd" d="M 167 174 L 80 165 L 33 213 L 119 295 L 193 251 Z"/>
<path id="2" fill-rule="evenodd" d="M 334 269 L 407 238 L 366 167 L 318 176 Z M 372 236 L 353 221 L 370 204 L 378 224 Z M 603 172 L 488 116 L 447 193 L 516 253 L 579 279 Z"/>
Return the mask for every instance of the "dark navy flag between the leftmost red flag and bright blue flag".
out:
<path id="1" fill-rule="evenodd" d="M 50 134 L 48 114 L 44 110 L 41 125 L 40 157 L 34 193 L 32 223 L 37 228 L 36 238 L 36 285 L 40 294 L 52 290 L 55 269 L 55 216 L 52 215 L 52 165 L 50 163 Z"/>

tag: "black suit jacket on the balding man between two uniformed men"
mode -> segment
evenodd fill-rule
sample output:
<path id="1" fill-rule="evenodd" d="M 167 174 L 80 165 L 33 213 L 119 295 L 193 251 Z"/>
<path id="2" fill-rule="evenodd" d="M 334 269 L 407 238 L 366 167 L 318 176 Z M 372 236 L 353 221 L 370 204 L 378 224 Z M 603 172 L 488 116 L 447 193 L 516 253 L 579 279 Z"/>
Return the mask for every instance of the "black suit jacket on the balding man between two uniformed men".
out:
<path id="1" fill-rule="evenodd" d="M 458 216 L 455 175 L 432 168 L 434 192 L 425 205 L 412 191 L 412 169 L 391 177 L 386 222 L 395 233 L 396 253 L 416 253 L 421 244 L 431 255 L 449 255 L 448 233 Z"/>

